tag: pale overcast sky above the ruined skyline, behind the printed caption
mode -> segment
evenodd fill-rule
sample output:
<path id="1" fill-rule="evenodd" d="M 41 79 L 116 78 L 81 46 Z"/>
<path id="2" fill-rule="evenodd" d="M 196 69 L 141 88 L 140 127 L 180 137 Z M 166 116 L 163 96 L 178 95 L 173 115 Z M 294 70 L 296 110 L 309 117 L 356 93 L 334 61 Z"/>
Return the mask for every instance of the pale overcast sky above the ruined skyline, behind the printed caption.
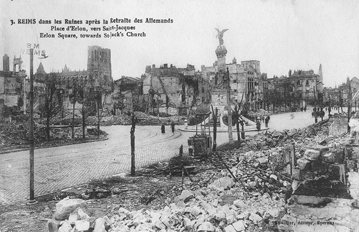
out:
<path id="1" fill-rule="evenodd" d="M 141 77 L 146 65 L 163 63 L 201 69 L 216 60 L 218 45 L 214 28 L 224 33 L 227 63 L 233 57 L 259 60 L 261 72 L 288 75 L 289 69 L 323 66 L 325 86 L 341 84 L 347 77 L 359 77 L 359 1 L 48 1 L 4 0 L 0 3 L 0 55 L 18 57 L 26 44 L 39 43 L 47 59 L 34 60 L 35 70 L 42 61 L 46 72 L 65 64 L 72 70 L 87 69 L 87 46 L 111 49 L 112 77 Z M 146 37 L 100 39 L 39 38 L 50 33 L 50 25 L 39 19 L 85 20 L 109 18 L 171 18 L 172 24 L 123 24 L 135 26 Z M 14 24 L 19 18 L 35 18 L 35 25 Z M 53 25 L 53 24 L 52 24 Z M 59 25 L 67 27 L 68 25 Z M 103 26 L 102 24 L 100 25 Z M 64 32 L 68 33 L 68 32 Z M 90 33 L 90 32 L 88 32 Z M 29 56 L 22 54 L 29 72 Z M 2 70 L 3 63 L 0 62 Z M 12 66 L 12 65 L 10 65 Z M 12 67 L 10 67 L 12 70 Z"/>

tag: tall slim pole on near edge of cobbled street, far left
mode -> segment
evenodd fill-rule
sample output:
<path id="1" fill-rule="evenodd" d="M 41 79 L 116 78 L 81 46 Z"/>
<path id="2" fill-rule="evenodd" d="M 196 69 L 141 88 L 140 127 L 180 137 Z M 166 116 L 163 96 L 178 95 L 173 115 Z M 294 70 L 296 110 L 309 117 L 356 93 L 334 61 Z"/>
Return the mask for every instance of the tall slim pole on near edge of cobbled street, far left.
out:
<path id="1" fill-rule="evenodd" d="M 28 204 L 36 204 L 34 198 L 34 49 L 30 49 L 30 199 Z"/>

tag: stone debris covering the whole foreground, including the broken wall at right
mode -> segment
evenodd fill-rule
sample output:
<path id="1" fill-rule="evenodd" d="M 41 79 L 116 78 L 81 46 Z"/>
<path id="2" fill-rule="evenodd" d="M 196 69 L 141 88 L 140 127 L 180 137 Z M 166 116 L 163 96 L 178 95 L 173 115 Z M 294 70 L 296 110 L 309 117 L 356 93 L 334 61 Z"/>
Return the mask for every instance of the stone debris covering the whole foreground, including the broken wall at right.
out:
<path id="1" fill-rule="evenodd" d="M 349 231 L 348 228 L 355 228 L 352 225 L 356 226 L 350 220 L 357 215 L 359 205 L 359 184 L 355 182 L 359 177 L 359 149 L 346 145 L 347 135 L 328 135 L 328 126 L 321 124 L 321 127 L 258 133 L 238 143 L 236 148 L 218 148 L 212 156 L 177 157 L 148 167 L 146 171 L 152 172 L 151 176 L 132 179 L 142 180 L 142 185 L 94 182 L 62 200 L 82 198 L 78 201 L 86 203 L 71 208 L 72 212 L 67 211 L 67 217 L 62 220 L 48 219 L 48 229 L 296 231 L 286 222 L 293 222 L 293 218 L 293 223 L 313 222 L 321 215 L 321 226 L 326 231 L 331 231 L 328 222 L 333 222 L 333 218 L 337 219 L 334 221 L 339 231 Z M 344 176 L 340 168 L 343 164 L 349 171 Z M 195 167 L 191 178 L 183 174 L 183 166 Z M 335 178 L 334 182 L 330 178 Z M 341 189 L 343 195 L 304 195 L 314 195 L 317 190 L 323 192 L 329 184 Z M 124 198 L 128 199 L 126 203 Z M 91 211 L 96 202 L 107 202 L 106 213 Z M 330 213 L 342 206 L 340 216 Z M 310 215 L 301 215 L 307 212 Z"/>

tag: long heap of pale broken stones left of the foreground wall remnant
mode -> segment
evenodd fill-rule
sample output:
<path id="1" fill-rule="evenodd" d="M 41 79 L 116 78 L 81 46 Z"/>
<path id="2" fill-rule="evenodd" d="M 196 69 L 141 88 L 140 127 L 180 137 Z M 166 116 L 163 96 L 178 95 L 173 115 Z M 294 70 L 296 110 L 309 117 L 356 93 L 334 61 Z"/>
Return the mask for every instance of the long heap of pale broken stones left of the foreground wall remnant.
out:
<path id="1" fill-rule="evenodd" d="M 54 218 L 48 221 L 49 231 L 277 231 L 278 221 L 285 215 L 286 200 L 292 194 L 291 174 L 295 179 L 300 170 L 303 179 L 303 172 L 316 172 L 309 166 L 318 160 L 311 159 L 318 152 L 310 153 L 307 149 L 327 145 L 331 149 L 328 152 L 319 149 L 323 157 L 320 161 L 337 161 L 342 158 L 342 150 L 336 148 L 341 140 L 343 137 L 314 137 L 311 128 L 258 133 L 246 140 L 241 149 L 220 151 L 198 161 L 203 165 L 188 175 L 191 184 L 185 190 L 177 186 L 168 190 L 180 189 L 181 195 L 167 198 L 166 206 L 160 210 L 128 211 L 114 204 L 107 216 L 86 214 L 91 193 L 101 192 L 93 190 L 87 193 L 88 198 L 83 197 L 85 200 L 59 201 Z M 292 160 L 296 159 L 295 168 Z M 179 174 L 181 165 L 194 164 L 169 162 L 154 169 L 165 175 L 171 175 L 170 170 Z"/>

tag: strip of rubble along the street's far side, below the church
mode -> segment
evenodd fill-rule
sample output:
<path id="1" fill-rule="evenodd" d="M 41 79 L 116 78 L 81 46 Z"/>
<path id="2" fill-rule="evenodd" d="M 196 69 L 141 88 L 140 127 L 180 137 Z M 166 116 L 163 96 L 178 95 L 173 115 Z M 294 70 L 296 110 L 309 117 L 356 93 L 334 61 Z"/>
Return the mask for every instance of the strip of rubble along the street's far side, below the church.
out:
<path id="1" fill-rule="evenodd" d="M 174 122 L 175 124 L 183 124 L 185 117 L 155 117 L 143 112 L 135 112 L 135 115 L 138 119 L 141 119 L 137 124 L 138 125 L 161 125 L 161 123 L 170 124 Z M 159 119 L 159 120 L 158 120 Z M 25 119 L 23 119 L 24 121 Z M 45 121 L 44 119 L 39 119 L 38 115 L 35 115 L 35 126 L 34 126 L 34 145 L 35 148 L 38 147 L 51 147 L 59 145 L 69 145 L 75 143 L 84 143 L 96 140 L 103 140 L 106 138 L 104 134 L 101 134 L 99 137 L 93 134 L 86 134 L 86 138 L 82 138 L 82 132 L 78 131 L 78 128 L 82 126 L 82 119 L 79 115 L 75 115 L 74 125 L 75 125 L 75 134 L 74 138 L 71 138 L 71 125 L 72 125 L 72 115 L 66 115 L 64 118 L 58 117 L 51 121 L 50 128 L 50 138 L 51 141 L 47 141 L 46 131 L 45 131 Z M 97 117 L 91 116 L 86 119 L 87 129 L 92 129 L 97 126 Z M 130 125 L 131 117 L 122 114 L 122 115 L 108 115 L 104 116 L 101 119 L 101 126 L 111 126 L 111 125 Z M 54 126 L 55 125 L 55 126 Z M 68 127 L 62 127 L 68 126 Z M 9 151 L 24 149 L 29 147 L 29 130 L 28 122 L 24 121 L 23 124 L 12 124 L 12 123 L 3 123 L 0 125 L 0 151 Z"/>

